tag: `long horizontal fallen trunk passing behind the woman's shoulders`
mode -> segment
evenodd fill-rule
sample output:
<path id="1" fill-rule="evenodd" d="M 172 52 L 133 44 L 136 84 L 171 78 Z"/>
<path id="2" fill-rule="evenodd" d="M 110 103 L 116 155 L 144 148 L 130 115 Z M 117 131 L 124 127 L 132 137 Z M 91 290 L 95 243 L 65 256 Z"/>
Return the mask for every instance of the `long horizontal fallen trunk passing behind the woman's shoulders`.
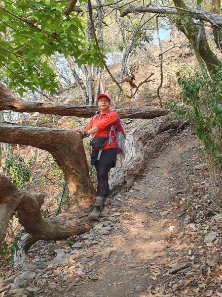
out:
<path id="1" fill-rule="evenodd" d="M 57 102 L 30 102 L 17 98 L 7 88 L 0 84 L 0 110 L 13 110 L 19 112 L 40 112 L 43 114 L 57 114 L 66 116 L 78 116 L 90 118 L 98 106 L 94 105 L 71 105 Z M 121 118 L 144 118 L 153 119 L 169 113 L 164 108 L 144 109 L 115 109 Z"/>

